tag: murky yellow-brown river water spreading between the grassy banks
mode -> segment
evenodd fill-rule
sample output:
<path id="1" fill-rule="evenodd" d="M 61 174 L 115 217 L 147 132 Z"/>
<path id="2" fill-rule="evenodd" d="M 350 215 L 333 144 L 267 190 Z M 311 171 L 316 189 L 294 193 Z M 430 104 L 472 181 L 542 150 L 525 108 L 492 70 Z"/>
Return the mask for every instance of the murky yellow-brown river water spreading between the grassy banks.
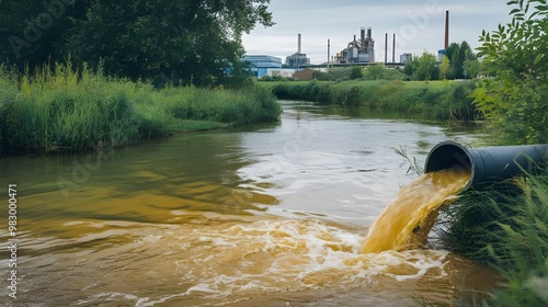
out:
<path id="1" fill-rule="evenodd" d="M 284 110 L 276 124 L 101 155 L 1 159 L 19 230 L 13 300 L 1 224 L 1 305 L 458 306 L 489 288 L 492 272 L 446 251 L 359 253 L 413 180 L 393 148 L 422 164 L 435 144 L 480 134 Z"/>

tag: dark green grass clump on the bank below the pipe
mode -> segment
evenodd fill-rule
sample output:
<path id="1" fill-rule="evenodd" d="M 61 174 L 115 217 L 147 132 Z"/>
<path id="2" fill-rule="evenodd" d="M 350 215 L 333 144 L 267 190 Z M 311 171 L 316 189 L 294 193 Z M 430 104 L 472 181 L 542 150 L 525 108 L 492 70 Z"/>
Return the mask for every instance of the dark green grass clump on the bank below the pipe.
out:
<path id="1" fill-rule="evenodd" d="M 506 283 L 486 306 L 548 306 L 548 172 L 466 192 L 445 212 L 445 248 L 494 266 Z"/>

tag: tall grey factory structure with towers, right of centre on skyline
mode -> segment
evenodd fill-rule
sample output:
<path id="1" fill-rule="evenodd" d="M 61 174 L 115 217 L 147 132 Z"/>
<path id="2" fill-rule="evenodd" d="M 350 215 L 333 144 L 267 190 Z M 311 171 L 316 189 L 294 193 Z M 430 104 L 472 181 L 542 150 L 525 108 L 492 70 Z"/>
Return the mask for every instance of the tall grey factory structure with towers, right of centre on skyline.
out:
<path id="1" fill-rule="evenodd" d="M 367 36 L 365 36 L 365 27 L 362 27 L 359 41 L 354 35 L 354 41 L 336 54 L 334 61 L 336 64 L 375 62 L 375 41 L 372 36 L 372 29 L 367 29 Z"/>

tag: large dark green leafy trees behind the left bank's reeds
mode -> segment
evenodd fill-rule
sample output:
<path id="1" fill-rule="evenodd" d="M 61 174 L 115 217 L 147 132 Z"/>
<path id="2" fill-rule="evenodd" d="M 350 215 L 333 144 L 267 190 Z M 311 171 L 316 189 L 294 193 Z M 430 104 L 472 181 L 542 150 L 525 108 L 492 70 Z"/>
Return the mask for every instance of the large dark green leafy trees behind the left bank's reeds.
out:
<path id="1" fill-rule="evenodd" d="M 67 59 L 156 84 L 230 83 L 241 34 L 272 25 L 270 0 L 0 1 L 0 62 L 19 72 Z"/>

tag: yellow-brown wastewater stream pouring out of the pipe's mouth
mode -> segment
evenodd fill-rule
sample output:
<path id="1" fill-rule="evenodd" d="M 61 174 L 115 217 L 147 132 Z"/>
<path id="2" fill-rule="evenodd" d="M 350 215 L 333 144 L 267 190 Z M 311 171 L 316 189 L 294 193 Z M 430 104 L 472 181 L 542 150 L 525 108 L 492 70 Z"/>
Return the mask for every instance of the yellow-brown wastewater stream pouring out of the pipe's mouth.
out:
<path id="1" fill-rule="evenodd" d="M 403 187 L 369 229 L 362 253 L 423 245 L 439 206 L 455 200 L 469 179 L 468 171 L 448 169 L 426 173 Z"/>

